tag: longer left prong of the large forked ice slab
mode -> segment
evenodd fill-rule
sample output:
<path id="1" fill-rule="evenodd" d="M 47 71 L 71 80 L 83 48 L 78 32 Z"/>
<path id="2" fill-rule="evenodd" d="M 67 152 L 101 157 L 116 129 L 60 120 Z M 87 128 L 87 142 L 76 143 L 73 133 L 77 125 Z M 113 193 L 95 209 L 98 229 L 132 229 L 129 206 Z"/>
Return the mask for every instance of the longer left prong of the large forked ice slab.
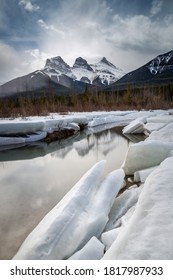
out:
<path id="1" fill-rule="evenodd" d="M 30 233 L 14 259 L 63 259 L 74 253 L 83 240 L 81 226 L 86 223 L 86 207 L 104 166 L 105 161 L 99 162 L 79 180 Z"/>

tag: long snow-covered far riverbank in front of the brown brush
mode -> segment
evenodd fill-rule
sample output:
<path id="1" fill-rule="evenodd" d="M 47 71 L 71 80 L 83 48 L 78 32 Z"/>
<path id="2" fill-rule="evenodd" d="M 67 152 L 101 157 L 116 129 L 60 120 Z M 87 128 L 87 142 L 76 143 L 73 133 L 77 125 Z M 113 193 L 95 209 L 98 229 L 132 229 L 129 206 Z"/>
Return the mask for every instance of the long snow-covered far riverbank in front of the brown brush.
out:
<path id="1" fill-rule="evenodd" d="M 154 117 L 164 111 L 115 111 L 93 113 L 51 114 L 47 117 L 29 117 L 0 120 L 0 145 L 28 144 L 46 138 L 47 134 L 63 129 L 80 130 L 87 125 L 91 130 L 100 125 L 124 126 L 132 120 L 142 117 Z"/>

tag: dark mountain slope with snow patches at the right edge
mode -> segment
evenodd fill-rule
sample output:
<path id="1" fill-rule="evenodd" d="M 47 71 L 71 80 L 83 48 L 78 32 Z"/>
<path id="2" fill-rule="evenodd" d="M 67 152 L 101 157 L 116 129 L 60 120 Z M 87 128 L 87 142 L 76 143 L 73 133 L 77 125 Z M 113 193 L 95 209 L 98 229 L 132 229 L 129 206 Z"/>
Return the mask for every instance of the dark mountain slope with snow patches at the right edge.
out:
<path id="1" fill-rule="evenodd" d="M 127 86 L 157 86 L 173 83 L 173 50 L 153 58 L 140 68 L 127 73 L 107 90 L 124 89 Z"/>

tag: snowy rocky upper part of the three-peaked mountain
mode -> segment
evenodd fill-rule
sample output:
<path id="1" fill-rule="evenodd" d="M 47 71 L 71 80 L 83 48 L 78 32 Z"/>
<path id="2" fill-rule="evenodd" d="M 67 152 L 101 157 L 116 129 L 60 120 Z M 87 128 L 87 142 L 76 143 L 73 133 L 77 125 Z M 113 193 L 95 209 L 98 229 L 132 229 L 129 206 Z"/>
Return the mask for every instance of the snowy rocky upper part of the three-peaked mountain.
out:
<path id="1" fill-rule="evenodd" d="M 88 64 L 82 57 L 76 58 L 70 67 L 60 56 L 47 59 L 43 72 L 50 78 L 66 75 L 73 80 L 89 84 L 109 85 L 120 79 L 125 73 L 109 62 L 105 57 L 96 64 Z"/>

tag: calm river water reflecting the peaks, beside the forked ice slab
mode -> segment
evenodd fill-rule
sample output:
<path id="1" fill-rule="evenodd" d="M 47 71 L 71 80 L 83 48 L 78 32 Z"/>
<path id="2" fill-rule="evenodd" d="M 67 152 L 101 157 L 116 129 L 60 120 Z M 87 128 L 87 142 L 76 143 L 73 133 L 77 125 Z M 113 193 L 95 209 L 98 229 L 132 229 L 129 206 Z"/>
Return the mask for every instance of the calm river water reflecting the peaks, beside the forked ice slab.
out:
<path id="1" fill-rule="evenodd" d="M 96 162 L 107 160 L 105 174 L 119 168 L 128 145 L 114 128 L 0 151 L 0 259 L 14 256 L 44 215 Z"/>

